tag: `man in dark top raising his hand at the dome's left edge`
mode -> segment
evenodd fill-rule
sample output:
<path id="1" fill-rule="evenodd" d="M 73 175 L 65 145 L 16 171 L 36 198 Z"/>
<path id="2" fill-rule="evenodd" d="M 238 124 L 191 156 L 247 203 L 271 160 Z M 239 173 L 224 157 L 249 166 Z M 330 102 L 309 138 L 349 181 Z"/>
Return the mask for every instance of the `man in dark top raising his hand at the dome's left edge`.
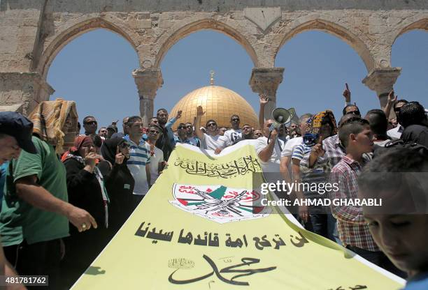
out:
<path id="1" fill-rule="evenodd" d="M 181 111 L 178 111 L 177 116 L 168 121 L 168 112 L 166 109 L 158 109 L 156 114 L 156 119 L 159 125 L 159 128 L 162 130 L 162 135 L 157 139 L 156 146 L 164 152 L 164 159 L 168 160 L 169 155 L 173 151 L 173 148 L 176 146 L 174 141 L 174 132 L 171 128 L 173 123 L 176 123 L 181 117 Z"/>

